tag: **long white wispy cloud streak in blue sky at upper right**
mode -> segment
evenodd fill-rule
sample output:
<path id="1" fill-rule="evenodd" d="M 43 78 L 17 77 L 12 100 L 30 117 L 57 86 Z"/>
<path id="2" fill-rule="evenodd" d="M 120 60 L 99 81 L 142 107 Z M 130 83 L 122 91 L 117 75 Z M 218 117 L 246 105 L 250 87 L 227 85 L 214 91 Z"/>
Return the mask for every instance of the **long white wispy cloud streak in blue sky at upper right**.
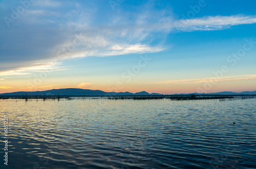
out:
<path id="1" fill-rule="evenodd" d="M 167 31 L 173 32 L 180 30 L 184 32 L 191 31 L 216 31 L 229 29 L 234 25 L 256 23 L 256 15 L 231 15 L 231 16 L 205 16 L 193 19 L 175 20 L 172 17 L 157 23 L 143 23 L 135 27 L 143 31 Z"/>

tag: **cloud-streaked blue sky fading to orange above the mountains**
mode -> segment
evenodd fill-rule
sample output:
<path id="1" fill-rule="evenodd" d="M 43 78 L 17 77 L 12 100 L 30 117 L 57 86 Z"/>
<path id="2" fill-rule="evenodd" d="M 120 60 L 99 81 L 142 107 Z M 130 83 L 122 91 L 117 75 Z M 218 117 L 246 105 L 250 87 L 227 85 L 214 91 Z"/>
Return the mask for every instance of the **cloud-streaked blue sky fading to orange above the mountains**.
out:
<path id="1" fill-rule="evenodd" d="M 0 93 L 256 91 L 255 5 L 0 0 Z"/>

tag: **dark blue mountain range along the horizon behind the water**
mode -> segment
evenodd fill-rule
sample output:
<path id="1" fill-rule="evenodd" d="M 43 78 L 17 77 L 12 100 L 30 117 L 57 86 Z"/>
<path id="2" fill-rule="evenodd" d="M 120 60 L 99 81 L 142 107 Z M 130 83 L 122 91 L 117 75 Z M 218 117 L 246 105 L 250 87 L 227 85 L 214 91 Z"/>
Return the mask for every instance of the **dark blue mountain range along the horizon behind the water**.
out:
<path id="1" fill-rule="evenodd" d="M 202 93 L 191 93 L 191 94 L 202 94 Z M 208 93 L 215 95 L 256 95 L 256 91 L 253 92 L 218 92 L 218 93 Z M 3 93 L 0 96 L 145 96 L 145 95 L 162 95 L 159 93 L 148 93 L 145 91 L 138 93 L 131 92 L 104 92 L 101 90 L 90 90 L 90 89 L 52 89 L 47 91 L 35 91 L 35 92 L 12 92 L 12 93 Z"/>

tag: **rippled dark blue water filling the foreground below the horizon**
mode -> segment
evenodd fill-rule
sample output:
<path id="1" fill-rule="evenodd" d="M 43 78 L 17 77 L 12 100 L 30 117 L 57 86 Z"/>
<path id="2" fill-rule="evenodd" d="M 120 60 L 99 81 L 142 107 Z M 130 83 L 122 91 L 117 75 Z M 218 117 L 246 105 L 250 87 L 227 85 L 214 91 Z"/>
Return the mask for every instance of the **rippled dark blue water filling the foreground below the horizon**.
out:
<path id="1" fill-rule="evenodd" d="M 0 100 L 0 114 L 1 169 L 256 168 L 256 99 Z"/>

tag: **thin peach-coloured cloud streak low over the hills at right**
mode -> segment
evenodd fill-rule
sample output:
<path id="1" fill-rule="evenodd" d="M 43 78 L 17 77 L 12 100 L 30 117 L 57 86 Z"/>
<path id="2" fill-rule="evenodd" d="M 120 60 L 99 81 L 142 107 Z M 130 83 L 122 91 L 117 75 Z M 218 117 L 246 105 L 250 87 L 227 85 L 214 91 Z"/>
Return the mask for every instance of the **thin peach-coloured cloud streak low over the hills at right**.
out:
<path id="1" fill-rule="evenodd" d="M 207 78 L 196 78 L 196 79 L 182 79 L 182 80 L 168 80 L 150 82 L 146 84 L 184 84 L 184 83 L 204 83 L 204 82 L 217 82 L 217 81 L 240 81 L 240 80 L 256 80 L 256 75 L 240 75 L 240 76 L 225 76 L 221 78 L 207 77 Z"/>

